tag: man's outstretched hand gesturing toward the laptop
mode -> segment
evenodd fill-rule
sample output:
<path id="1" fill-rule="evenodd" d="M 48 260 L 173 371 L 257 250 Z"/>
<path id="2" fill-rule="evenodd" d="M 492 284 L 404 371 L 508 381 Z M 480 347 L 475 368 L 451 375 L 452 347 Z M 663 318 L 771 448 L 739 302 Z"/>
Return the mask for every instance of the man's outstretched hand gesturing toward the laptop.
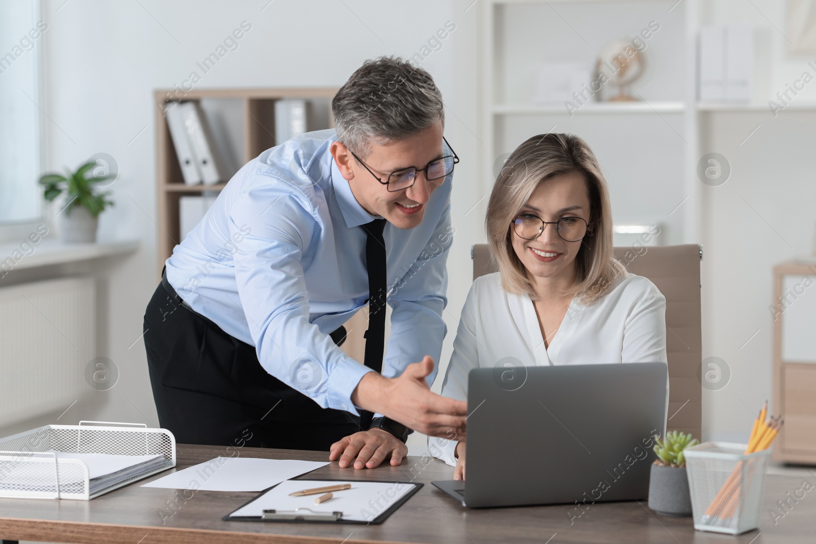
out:
<path id="1" fill-rule="evenodd" d="M 433 372 L 433 360 L 408 365 L 398 378 L 365 374 L 352 393 L 354 405 L 383 414 L 428 436 L 464 440 L 468 403 L 431 392 L 425 378 Z"/>

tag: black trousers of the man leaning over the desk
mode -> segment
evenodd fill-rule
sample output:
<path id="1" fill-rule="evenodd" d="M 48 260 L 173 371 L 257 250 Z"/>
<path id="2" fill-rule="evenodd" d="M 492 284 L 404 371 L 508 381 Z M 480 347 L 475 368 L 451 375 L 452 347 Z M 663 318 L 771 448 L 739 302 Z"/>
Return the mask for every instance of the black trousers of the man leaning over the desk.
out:
<path id="1" fill-rule="evenodd" d="M 274 378 L 254 346 L 172 294 L 161 283 L 153 293 L 144 346 L 159 424 L 176 443 L 328 451 L 360 430 L 357 416 L 323 409 Z"/>

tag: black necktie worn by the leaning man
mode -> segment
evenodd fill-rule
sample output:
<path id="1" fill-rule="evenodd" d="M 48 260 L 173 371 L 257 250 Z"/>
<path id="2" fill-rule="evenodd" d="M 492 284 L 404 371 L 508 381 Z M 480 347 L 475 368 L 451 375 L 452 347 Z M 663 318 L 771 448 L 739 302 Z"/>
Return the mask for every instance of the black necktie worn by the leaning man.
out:
<path id="1" fill-rule="evenodd" d="M 385 275 L 385 219 L 375 219 L 362 226 L 366 229 L 366 268 L 368 268 L 368 330 L 366 330 L 366 366 L 381 372 L 385 347 L 385 298 L 388 279 Z M 360 427 L 367 431 L 371 414 L 360 410 Z"/>

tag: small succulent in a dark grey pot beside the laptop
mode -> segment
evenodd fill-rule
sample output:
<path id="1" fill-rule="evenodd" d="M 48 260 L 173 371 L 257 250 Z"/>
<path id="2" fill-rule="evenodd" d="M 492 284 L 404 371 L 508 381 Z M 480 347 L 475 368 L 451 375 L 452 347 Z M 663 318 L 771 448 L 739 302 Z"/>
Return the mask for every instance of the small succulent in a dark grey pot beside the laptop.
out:
<path id="1" fill-rule="evenodd" d="M 654 460 L 649 480 L 649 507 L 663 515 L 691 515 L 689 479 L 685 475 L 683 450 L 700 441 L 691 433 L 671 431 L 655 440 Z"/>

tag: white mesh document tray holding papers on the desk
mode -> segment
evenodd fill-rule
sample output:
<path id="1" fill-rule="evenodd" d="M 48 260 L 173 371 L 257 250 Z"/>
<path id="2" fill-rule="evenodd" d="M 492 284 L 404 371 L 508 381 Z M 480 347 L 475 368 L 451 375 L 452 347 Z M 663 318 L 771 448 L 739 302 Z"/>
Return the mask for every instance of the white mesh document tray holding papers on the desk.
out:
<path id="1" fill-rule="evenodd" d="M 90 459 L 113 459 L 100 453 L 134 457 L 124 464 L 115 459 L 122 468 L 94 477 Z M 131 462 L 138 464 L 125 466 Z M 0 497 L 87 501 L 171 467 L 175 437 L 166 429 L 95 421 L 46 425 L 0 438 Z"/>

